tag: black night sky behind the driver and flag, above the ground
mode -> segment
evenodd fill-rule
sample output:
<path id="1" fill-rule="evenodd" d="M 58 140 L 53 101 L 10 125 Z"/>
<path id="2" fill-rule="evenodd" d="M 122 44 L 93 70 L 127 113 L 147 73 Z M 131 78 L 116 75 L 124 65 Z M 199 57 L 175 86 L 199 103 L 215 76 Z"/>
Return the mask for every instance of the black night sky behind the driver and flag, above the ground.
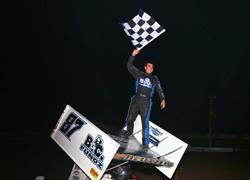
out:
<path id="1" fill-rule="evenodd" d="M 248 1 L 22 0 L 2 6 L 1 134 L 49 137 L 66 104 L 96 124 L 122 128 L 134 49 L 119 23 L 139 8 L 166 32 L 142 49 L 167 97 L 151 120 L 167 131 L 250 133 Z M 59 147 L 57 147 L 59 149 Z M 63 154 L 63 153 L 62 153 Z"/>

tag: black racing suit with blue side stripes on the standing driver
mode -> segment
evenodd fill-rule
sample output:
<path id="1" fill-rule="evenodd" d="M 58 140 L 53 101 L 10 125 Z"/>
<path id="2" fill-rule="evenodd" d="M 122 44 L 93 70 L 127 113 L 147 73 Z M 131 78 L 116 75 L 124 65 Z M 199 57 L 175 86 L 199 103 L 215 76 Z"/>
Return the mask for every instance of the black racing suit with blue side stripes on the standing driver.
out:
<path id="1" fill-rule="evenodd" d="M 126 125 L 128 134 L 133 133 L 134 121 L 138 114 L 141 115 L 142 123 L 142 144 L 149 144 L 149 118 L 152 106 L 152 97 L 156 89 L 160 100 L 164 100 L 165 96 L 162 91 L 160 81 L 157 76 L 147 74 L 138 70 L 134 66 L 134 56 L 130 56 L 127 62 L 127 68 L 135 79 L 135 95 L 131 98 L 128 109 Z"/>

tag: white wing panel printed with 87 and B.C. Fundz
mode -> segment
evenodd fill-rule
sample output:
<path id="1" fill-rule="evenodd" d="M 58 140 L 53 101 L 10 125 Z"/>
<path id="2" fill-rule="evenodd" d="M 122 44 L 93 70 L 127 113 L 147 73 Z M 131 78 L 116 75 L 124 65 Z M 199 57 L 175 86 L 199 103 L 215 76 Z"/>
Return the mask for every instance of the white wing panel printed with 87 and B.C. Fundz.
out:
<path id="1" fill-rule="evenodd" d="M 69 105 L 51 138 L 92 180 L 103 176 L 119 144 Z"/>

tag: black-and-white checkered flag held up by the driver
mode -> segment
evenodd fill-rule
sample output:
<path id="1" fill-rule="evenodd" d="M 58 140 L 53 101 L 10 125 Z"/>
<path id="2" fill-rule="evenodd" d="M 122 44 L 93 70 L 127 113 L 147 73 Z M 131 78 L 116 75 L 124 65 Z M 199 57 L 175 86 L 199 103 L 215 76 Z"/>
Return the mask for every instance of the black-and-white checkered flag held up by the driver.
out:
<path id="1" fill-rule="evenodd" d="M 138 15 L 132 20 L 121 23 L 121 25 L 137 49 L 142 49 L 166 31 L 151 16 L 141 9 Z"/>

